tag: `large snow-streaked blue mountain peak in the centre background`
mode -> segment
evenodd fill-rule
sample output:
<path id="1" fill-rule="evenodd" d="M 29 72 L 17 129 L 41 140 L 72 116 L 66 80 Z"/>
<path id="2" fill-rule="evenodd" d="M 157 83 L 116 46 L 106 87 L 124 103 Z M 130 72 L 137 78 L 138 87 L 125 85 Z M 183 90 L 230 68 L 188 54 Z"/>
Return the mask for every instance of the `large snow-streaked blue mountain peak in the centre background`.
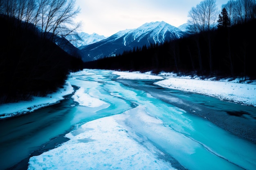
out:
<path id="1" fill-rule="evenodd" d="M 187 33 L 166 22 L 145 23 L 137 29 L 126 29 L 99 42 L 80 48 L 84 62 L 97 60 L 101 57 L 122 54 L 125 50 L 150 44 L 160 44 L 186 36 Z"/>

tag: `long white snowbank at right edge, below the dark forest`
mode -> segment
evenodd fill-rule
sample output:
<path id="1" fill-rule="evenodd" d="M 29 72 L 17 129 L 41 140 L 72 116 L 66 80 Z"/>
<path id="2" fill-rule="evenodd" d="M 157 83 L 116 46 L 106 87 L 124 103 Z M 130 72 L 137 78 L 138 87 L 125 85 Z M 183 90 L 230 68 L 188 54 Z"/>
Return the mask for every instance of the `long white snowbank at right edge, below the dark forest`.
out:
<path id="1" fill-rule="evenodd" d="M 256 107 L 256 85 L 230 82 L 217 82 L 195 79 L 168 78 L 155 84 L 193 93 L 200 93 L 219 99 L 241 102 Z"/>

